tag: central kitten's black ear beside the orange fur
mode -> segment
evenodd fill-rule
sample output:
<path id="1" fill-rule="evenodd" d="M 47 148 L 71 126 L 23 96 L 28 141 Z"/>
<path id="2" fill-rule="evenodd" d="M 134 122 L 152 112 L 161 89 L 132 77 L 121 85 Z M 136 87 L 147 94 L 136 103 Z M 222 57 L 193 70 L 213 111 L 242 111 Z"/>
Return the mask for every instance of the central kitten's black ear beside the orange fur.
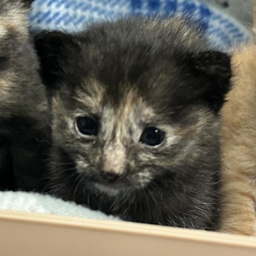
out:
<path id="1" fill-rule="evenodd" d="M 219 51 L 205 51 L 190 59 L 190 68 L 195 76 L 202 77 L 203 99 L 215 111 L 219 111 L 230 90 L 231 57 Z"/>

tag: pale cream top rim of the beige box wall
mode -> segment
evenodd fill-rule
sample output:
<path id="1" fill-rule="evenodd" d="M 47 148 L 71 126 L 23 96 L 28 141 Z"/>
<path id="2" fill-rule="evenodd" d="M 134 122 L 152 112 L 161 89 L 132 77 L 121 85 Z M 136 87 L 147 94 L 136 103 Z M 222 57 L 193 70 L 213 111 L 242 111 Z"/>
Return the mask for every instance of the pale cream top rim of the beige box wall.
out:
<path id="1" fill-rule="evenodd" d="M 191 242 L 222 244 L 223 246 L 246 247 L 256 250 L 256 237 L 239 236 L 204 230 L 164 227 L 143 223 L 115 220 L 94 220 L 59 215 L 38 214 L 0 210 L 0 221 L 36 223 L 37 225 L 73 227 L 111 233 L 154 236 L 170 239 L 185 239 Z M 256 255 L 256 251 L 255 251 Z"/>

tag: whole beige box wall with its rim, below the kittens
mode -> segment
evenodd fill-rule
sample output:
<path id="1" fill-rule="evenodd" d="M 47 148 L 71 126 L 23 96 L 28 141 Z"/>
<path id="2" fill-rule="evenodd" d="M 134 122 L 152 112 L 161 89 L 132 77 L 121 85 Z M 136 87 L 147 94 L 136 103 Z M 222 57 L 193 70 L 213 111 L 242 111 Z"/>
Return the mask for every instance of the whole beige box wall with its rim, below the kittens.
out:
<path id="1" fill-rule="evenodd" d="M 118 221 L 0 211 L 4 256 L 255 256 L 256 238 Z"/>

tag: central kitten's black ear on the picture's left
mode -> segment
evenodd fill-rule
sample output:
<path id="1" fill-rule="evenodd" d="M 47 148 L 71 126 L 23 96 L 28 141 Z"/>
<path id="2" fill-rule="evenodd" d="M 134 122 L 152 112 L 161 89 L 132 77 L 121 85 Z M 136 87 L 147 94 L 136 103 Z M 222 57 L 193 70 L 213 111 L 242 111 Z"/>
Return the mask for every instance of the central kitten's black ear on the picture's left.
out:
<path id="1" fill-rule="evenodd" d="M 50 90 L 58 90 L 71 44 L 75 44 L 73 36 L 60 31 L 42 31 L 34 36 L 42 81 Z"/>

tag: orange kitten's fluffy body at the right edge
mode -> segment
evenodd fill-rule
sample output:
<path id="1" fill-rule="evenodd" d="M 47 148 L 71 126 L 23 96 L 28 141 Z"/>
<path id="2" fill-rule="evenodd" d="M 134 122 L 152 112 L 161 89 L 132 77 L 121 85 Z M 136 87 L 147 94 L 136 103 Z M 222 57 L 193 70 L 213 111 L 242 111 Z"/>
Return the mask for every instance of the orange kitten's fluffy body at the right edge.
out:
<path id="1" fill-rule="evenodd" d="M 256 45 L 235 52 L 233 89 L 221 111 L 222 232 L 256 235 Z"/>

